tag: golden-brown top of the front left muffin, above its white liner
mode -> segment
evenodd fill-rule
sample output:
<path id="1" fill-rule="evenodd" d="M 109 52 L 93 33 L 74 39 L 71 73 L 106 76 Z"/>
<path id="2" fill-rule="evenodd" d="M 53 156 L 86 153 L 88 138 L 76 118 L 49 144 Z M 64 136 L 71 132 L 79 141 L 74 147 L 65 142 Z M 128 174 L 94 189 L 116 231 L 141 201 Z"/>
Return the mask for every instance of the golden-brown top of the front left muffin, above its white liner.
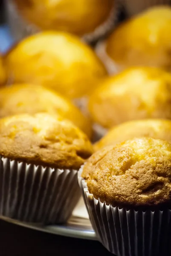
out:
<path id="1" fill-rule="evenodd" d="M 72 122 L 48 113 L 0 119 L 0 155 L 55 168 L 79 169 L 93 149 Z"/>

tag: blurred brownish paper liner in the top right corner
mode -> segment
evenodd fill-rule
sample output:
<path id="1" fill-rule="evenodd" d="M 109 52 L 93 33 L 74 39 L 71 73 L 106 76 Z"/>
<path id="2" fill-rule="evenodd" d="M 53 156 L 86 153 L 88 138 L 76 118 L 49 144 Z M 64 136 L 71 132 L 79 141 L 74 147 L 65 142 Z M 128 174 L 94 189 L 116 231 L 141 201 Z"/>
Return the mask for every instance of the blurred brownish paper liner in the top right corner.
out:
<path id="1" fill-rule="evenodd" d="M 157 5 L 171 5 L 171 0 L 120 0 L 128 17 Z"/>

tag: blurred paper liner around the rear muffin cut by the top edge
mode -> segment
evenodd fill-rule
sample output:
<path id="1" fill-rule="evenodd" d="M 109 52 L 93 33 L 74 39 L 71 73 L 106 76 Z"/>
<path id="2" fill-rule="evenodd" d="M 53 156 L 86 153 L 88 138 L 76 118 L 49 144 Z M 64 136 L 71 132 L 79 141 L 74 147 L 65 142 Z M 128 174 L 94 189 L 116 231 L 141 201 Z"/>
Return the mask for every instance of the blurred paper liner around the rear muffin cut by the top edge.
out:
<path id="1" fill-rule="evenodd" d="M 9 27 L 15 40 L 20 41 L 26 36 L 40 32 L 37 26 L 26 21 L 17 10 L 12 0 L 6 0 L 6 12 Z M 115 27 L 119 16 L 120 3 L 113 1 L 113 8 L 107 20 L 95 29 L 92 33 L 84 35 L 81 39 L 86 43 L 92 43 L 107 35 Z"/>

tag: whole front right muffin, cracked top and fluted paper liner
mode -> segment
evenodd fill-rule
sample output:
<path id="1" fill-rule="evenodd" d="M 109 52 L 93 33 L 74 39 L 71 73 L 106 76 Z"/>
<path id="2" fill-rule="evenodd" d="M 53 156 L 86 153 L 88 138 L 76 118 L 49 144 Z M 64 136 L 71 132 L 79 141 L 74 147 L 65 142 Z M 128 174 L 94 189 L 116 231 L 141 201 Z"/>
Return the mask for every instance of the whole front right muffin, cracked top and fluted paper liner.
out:
<path id="1" fill-rule="evenodd" d="M 137 138 L 92 155 L 78 180 L 97 236 L 118 255 L 168 255 L 171 144 Z"/>

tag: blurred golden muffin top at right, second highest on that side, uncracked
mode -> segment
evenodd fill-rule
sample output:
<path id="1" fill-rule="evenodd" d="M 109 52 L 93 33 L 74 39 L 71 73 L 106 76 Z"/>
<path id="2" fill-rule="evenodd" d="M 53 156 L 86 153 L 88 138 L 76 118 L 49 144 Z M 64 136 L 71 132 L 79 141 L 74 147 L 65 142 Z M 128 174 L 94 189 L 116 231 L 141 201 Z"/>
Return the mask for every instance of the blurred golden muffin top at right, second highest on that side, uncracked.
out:
<path id="1" fill-rule="evenodd" d="M 171 74 L 154 67 L 129 68 L 102 82 L 89 109 L 105 128 L 135 119 L 171 119 Z"/>

